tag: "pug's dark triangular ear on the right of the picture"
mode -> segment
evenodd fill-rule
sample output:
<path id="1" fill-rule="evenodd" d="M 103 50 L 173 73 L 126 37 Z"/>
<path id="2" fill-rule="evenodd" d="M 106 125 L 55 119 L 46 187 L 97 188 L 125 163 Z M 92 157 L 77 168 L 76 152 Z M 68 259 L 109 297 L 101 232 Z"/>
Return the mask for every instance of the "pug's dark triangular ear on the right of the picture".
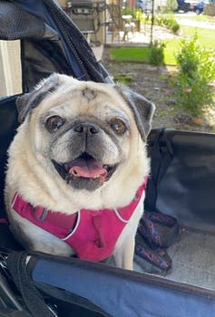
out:
<path id="1" fill-rule="evenodd" d="M 155 105 L 144 98 L 141 94 L 132 91 L 128 87 L 115 85 L 114 88 L 121 94 L 124 101 L 132 109 L 138 130 L 145 141 L 151 130 L 151 119 L 155 110 Z"/>

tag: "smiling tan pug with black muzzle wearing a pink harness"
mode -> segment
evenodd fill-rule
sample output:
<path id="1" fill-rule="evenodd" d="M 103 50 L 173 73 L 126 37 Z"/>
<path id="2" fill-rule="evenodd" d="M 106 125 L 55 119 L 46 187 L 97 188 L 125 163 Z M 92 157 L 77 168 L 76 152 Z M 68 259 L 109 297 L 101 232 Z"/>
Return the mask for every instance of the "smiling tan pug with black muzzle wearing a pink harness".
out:
<path id="1" fill-rule="evenodd" d="M 16 101 L 5 204 L 25 248 L 132 269 L 154 105 L 115 84 L 52 74 Z"/>

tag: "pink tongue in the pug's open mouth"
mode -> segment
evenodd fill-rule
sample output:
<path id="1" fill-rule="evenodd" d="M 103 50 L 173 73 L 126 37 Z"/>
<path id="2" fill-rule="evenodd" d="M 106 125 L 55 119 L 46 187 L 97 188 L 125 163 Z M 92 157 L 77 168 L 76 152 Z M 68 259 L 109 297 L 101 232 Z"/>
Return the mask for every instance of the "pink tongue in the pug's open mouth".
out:
<path id="1" fill-rule="evenodd" d="M 96 159 L 74 159 L 69 174 L 83 178 L 105 178 L 107 171 L 103 168 L 103 164 Z"/>

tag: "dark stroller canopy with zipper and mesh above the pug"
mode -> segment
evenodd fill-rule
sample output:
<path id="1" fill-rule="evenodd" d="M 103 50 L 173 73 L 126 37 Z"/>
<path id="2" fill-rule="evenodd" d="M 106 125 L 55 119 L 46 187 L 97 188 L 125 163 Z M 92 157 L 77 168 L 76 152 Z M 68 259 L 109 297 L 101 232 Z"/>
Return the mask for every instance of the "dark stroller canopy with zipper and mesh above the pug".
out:
<path id="1" fill-rule="evenodd" d="M 0 1 L 0 40 L 17 39 L 24 92 L 52 72 L 110 82 L 83 34 L 53 0 Z"/>

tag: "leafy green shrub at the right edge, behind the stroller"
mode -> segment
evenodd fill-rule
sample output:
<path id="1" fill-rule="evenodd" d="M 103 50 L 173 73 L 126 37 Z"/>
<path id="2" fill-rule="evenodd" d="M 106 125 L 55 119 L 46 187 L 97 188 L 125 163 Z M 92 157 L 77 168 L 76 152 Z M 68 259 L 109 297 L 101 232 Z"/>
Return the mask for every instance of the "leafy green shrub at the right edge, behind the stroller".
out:
<path id="1" fill-rule="evenodd" d="M 215 79 L 215 52 L 201 47 L 195 34 L 189 40 L 181 40 L 176 61 L 176 105 L 193 117 L 199 116 L 204 106 L 214 104 L 210 82 Z"/>

